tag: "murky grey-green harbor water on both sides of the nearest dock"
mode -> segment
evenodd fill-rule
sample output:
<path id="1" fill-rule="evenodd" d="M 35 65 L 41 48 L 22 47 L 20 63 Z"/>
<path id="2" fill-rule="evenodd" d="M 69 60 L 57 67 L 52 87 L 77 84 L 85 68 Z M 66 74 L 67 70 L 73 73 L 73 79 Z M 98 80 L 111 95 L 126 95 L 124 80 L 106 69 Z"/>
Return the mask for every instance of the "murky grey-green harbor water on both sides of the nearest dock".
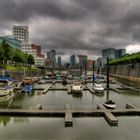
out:
<path id="1" fill-rule="evenodd" d="M 61 86 L 61 85 L 55 85 Z M 92 86 L 92 84 L 90 84 Z M 125 91 L 118 94 L 109 92 L 109 98 L 116 102 L 117 108 L 125 108 L 125 103 L 140 107 L 140 95 Z M 43 109 L 72 108 L 91 109 L 106 101 L 103 96 L 84 90 L 79 96 L 68 94 L 67 90 L 49 90 L 46 94 L 34 91 L 32 94 L 21 93 L 1 108 L 31 109 L 35 104 L 42 104 Z M 118 117 L 118 126 L 111 127 L 104 117 L 74 117 L 73 126 L 65 127 L 63 117 L 9 117 L 0 116 L 0 139 L 2 140 L 139 140 L 140 117 Z"/>

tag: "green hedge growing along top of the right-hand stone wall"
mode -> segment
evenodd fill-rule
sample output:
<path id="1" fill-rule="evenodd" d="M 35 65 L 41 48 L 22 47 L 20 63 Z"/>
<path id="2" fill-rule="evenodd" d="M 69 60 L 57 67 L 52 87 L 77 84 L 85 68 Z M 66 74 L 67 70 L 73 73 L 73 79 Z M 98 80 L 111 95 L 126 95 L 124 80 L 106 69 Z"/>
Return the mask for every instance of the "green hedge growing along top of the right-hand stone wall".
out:
<path id="1" fill-rule="evenodd" d="M 129 54 L 110 61 L 110 65 L 135 64 L 135 63 L 140 63 L 140 52 Z"/>

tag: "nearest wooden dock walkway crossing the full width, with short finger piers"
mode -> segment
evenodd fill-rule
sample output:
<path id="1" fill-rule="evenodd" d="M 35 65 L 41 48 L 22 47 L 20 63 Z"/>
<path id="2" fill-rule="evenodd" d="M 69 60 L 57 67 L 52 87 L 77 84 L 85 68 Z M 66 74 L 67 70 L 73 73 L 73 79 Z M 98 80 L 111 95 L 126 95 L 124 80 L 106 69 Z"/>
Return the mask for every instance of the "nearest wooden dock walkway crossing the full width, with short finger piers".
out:
<path id="1" fill-rule="evenodd" d="M 131 106 L 128 108 L 128 106 Z M 117 125 L 118 119 L 116 116 L 122 115 L 140 115 L 140 108 L 134 108 L 134 105 L 126 104 L 126 109 L 107 109 L 102 104 L 97 105 L 97 109 L 73 109 L 69 104 L 65 105 L 64 109 L 41 109 L 42 105 L 38 104 L 32 109 L 0 109 L 0 116 L 51 116 L 64 117 L 65 126 L 73 125 L 72 117 L 81 116 L 102 116 L 110 125 Z"/>

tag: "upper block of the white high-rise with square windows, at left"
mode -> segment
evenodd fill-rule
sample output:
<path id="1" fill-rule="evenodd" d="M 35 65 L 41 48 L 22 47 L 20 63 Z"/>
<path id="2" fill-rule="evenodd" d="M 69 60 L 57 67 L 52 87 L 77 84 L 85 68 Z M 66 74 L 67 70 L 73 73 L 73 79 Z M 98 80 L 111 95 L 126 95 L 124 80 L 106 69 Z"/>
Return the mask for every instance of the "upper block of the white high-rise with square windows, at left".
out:
<path id="1" fill-rule="evenodd" d="M 20 40 L 21 42 L 29 41 L 29 29 L 28 26 L 13 26 L 12 35 L 14 38 Z"/>

